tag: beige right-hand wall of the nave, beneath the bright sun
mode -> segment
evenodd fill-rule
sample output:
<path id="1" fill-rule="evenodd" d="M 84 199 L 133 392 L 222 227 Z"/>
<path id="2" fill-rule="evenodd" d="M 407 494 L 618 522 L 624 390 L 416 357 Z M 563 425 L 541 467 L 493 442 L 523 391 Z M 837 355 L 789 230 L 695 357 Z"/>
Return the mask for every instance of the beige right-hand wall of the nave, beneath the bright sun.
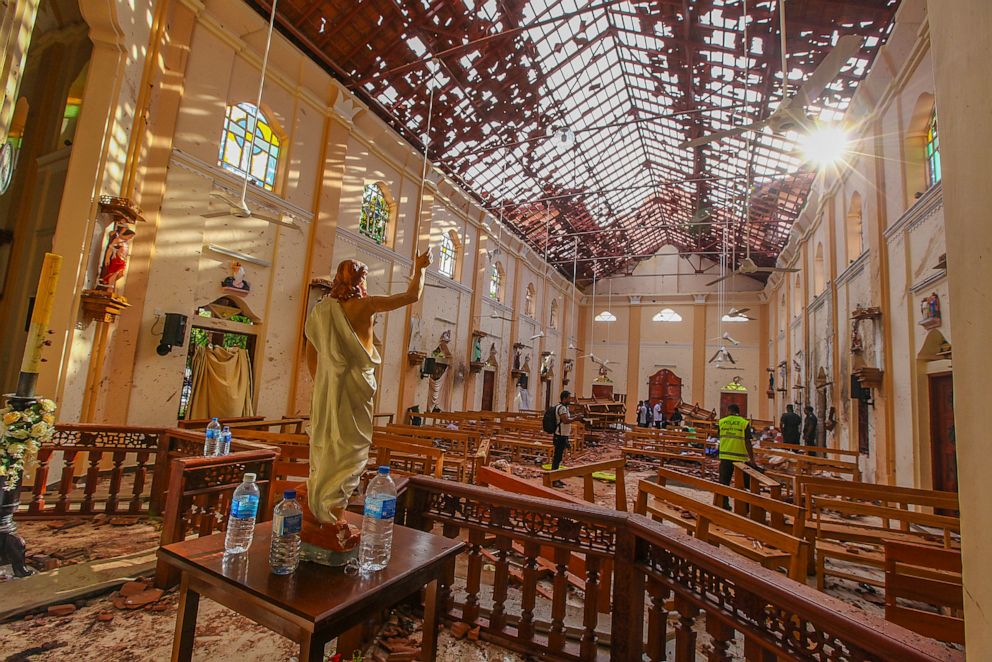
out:
<path id="1" fill-rule="evenodd" d="M 917 358 L 927 338 L 918 324 L 923 296 L 941 297 L 938 331 L 951 339 L 945 274 L 933 269 L 944 253 L 942 191 L 939 185 L 926 190 L 919 139 L 933 93 L 925 3 L 903 2 L 889 42 L 848 112 L 852 149 L 842 167 L 818 178 L 780 258 L 801 272 L 776 275 L 766 288 L 767 367 L 782 361 L 788 366 L 788 393 L 777 394 L 776 415 L 797 393 L 804 404 L 811 395 L 815 401 L 814 379 L 822 368 L 831 382 L 826 409 L 835 406 L 839 421 L 825 442 L 857 448 L 851 370 L 880 368 L 883 386 L 869 409 L 871 449 L 861 458 L 865 477 L 920 487 L 932 484 L 926 374 L 939 367 Z M 864 351 L 854 355 L 850 316 L 858 304 L 880 307 L 882 317 L 862 322 Z M 797 383 L 804 390 L 793 389 Z"/>

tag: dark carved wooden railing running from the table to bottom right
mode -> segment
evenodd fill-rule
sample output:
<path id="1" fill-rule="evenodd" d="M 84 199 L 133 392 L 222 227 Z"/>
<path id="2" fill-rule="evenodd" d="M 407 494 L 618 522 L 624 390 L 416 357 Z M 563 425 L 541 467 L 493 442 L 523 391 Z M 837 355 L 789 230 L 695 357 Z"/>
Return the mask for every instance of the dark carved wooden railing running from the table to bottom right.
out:
<path id="1" fill-rule="evenodd" d="M 407 484 L 406 523 L 468 541 L 464 586 L 457 587 L 464 597 L 456 602 L 453 577 L 442 596 L 449 619 L 481 626 L 483 638 L 543 659 L 597 659 L 607 634 L 611 660 L 668 659 L 672 613 L 677 662 L 697 659 L 700 626 L 710 638 L 709 660 L 963 659 L 931 639 L 639 515 L 415 476 Z M 539 563 L 548 550 L 553 563 Z M 585 558 L 578 613 L 567 601 L 574 555 Z M 596 609 L 607 560 L 614 564 L 608 615 Z M 483 572 L 489 563 L 495 570 Z M 511 572 L 517 567 L 522 570 Z M 519 608 L 511 609 L 517 604 L 508 599 L 514 575 L 520 599 Z"/>

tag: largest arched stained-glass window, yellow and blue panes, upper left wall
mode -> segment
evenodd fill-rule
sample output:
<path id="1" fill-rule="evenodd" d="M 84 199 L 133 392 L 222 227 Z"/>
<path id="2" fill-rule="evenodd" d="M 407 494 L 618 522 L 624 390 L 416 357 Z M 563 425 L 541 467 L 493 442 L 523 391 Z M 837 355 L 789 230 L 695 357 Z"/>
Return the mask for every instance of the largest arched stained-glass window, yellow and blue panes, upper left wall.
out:
<path id="1" fill-rule="evenodd" d="M 250 103 L 228 106 L 218 163 L 241 177 L 247 173 L 252 184 L 271 191 L 276 184 L 280 144 L 261 109 Z"/>

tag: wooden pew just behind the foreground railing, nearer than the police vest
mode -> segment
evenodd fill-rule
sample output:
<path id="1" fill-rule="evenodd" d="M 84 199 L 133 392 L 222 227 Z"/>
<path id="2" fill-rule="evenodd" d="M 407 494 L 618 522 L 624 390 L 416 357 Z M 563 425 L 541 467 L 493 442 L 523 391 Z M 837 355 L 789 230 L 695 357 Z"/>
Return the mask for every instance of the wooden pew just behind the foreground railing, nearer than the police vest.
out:
<path id="1" fill-rule="evenodd" d="M 682 480 L 679 475 L 678 479 Z M 765 499 L 750 492 L 720 486 L 719 496 Z M 715 495 L 716 496 L 716 495 Z M 652 501 L 653 499 L 653 501 Z M 767 501 L 772 501 L 767 499 Z M 764 504 L 772 507 L 772 504 Z M 805 581 L 809 543 L 760 522 L 712 504 L 703 503 L 663 485 L 642 480 L 637 484 L 634 512 L 667 521 L 712 545 L 723 546 L 770 569 L 785 568 L 789 577 Z"/>

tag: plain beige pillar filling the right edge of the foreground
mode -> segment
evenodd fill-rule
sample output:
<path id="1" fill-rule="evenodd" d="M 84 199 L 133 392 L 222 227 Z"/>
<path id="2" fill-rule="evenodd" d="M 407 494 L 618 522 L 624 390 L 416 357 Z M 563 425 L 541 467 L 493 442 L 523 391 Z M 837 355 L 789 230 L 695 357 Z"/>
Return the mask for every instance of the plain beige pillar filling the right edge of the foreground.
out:
<path id="1" fill-rule="evenodd" d="M 961 499 L 966 647 L 992 650 L 992 453 L 988 450 L 988 375 L 992 351 L 992 208 L 987 154 L 992 149 L 988 35 L 992 3 L 929 0 L 943 167 L 949 317 L 954 346 L 954 422 Z"/>

